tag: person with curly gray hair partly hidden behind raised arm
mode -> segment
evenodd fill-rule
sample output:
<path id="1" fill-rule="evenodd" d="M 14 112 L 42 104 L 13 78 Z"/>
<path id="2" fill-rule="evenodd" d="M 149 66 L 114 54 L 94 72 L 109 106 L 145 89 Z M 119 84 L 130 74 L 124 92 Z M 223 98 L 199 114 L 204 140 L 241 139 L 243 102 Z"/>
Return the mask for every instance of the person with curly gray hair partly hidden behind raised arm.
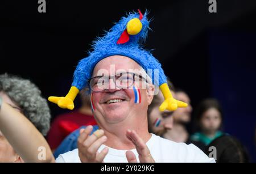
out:
<path id="1" fill-rule="evenodd" d="M 23 114 L 44 136 L 50 125 L 51 114 L 46 99 L 30 80 L 14 75 L 0 75 L 0 97 L 9 107 Z M 0 127 L 0 162 L 24 162 L 16 153 Z"/>

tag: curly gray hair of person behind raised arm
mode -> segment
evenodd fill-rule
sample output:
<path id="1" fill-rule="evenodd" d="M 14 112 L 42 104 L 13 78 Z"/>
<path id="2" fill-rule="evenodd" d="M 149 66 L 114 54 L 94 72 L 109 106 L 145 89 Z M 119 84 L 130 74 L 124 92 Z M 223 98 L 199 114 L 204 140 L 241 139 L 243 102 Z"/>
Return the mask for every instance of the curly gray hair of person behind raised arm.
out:
<path id="1" fill-rule="evenodd" d="M 24 116 L 45 136 L 49 130 L 51 114 L 46 99 L 30 80 L 14 75 L 0 75 L 0 92 L 4 92 L 22 108 Z"/>

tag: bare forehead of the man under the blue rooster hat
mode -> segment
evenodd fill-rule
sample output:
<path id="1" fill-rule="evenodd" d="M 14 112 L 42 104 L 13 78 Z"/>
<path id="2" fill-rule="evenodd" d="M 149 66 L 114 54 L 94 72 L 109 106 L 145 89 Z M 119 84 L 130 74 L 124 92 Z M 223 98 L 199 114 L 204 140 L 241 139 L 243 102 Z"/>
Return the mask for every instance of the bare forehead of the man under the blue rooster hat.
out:
<path id="1" fill-rule="evenodd" d="M 117 72 L 117 71 L 130 71 L 130 70 L 140 70 L 141 66 L 132 60 L 129 57 L 126 56 L 109 56 L 101 60 L 97 63 L 97 65 L 94 67 L 93 75 L 97 74 L 98 71 L 101 70 L 107 70 L 110 72 Z"/>

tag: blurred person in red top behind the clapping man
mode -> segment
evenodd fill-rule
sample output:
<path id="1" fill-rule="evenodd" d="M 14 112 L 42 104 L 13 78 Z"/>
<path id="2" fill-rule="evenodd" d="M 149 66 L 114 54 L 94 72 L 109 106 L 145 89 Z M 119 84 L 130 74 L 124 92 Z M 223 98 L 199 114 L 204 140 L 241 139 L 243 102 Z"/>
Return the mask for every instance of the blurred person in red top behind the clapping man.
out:
<path id="1" fill-rule="evenodd" d="M 55 120 L 53 120 L 51 129 L 47 135 L 47 141 L 52 151 L 54 151 L 72 131 L 81 126 L 96 125 L 90 107 L 90 95 L 86 95 L 85 92 L 86 90 L 80 92 L 81 107 L 79 109 L 56 116 Z"/>

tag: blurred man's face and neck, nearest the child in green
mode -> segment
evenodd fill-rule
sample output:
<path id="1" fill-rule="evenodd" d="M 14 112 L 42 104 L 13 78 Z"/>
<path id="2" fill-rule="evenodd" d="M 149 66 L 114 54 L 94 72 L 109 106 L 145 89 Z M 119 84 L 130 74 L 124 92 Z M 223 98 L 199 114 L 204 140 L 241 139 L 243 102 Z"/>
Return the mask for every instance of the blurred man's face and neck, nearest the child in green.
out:
<path id="1" fill-rule="evenodd" d="M 175 96 L 178 100 L 187 103 L 188 107 L 176 109 L 176 111 L 172 114 L 172 117 L 174 118 L 172 129 L 168 129 L 164 133 L 164 137 L 174 142 L 187 142 L 189 139 L 189 133 L 186 129 L 186 125 L 191 120 L 191 101 L 189 96 L 183 90 L 176 89 Z"/>

